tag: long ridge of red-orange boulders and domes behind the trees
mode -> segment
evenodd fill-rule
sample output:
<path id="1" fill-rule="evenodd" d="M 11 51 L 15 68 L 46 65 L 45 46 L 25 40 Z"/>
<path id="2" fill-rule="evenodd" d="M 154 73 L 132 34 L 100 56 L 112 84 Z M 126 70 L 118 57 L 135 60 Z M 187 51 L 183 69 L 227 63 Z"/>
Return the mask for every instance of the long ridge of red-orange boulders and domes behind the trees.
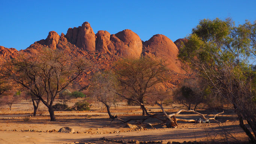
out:
<path id="1" fill-rule="evenodd" d="M 179 43 L 180 41 L 184 40 L 179 40 Z M 164 87 L 171 89 L 190 75 L 177 58 L 179 49 L 168 37 L 156 34 L 143 42 L 136 33 L 128 29 L 116 34 L 100 30 L 95 34 L 88 22 L 84 22 L 79 27 L 68 28 L 66 35 L 50 31 L 46 39 L 36 41 L 21 51 L 0 46 L 0 58 L 14 58 L 19 54 L 38 54 L 43 48 L 61 49 L 71 57 L 84 56 L 99 69 L 111 69 L 112 64 L 120 58 L 139 58 L 142 55 L 159 58 L 165 60 L 171 70 L 172 80 L 164 84 Z M 78 80 L 85 87 L 88 83 L 84 78 L 89 73 Z"/>

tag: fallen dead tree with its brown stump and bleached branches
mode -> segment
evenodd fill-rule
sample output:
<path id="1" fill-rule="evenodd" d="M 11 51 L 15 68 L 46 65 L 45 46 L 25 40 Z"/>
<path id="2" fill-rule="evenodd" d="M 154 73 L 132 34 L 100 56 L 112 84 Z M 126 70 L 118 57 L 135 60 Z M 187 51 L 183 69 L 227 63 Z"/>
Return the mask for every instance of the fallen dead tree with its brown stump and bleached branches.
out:
<path id="1" fill-rule="evenodd" d="M 219 115 L 219 114 L 223 114 L 223 112 L 221 113 L 218 113 L 218 114 L 215 114 L 214 117 L 211 117 L 211 118 L 206 118 L 205 115 L 201 114 L 201 113 L 198 113 L 197 111 L 194 111 L 194 110 L 179 110 L 177 111 L 176 113 L 172 113 L 172 114 L 167 114 L 165 111 L 164 111 L 164 108 L 163 108 L 163 105 L 162 104 L 159 104 L 158 102 L 156 102 L 156 104 L 161 108 L 161 110 L 163 111 L 164 115 L 167 117 L 167 122 L 166 122 L 166 126 L 167 127 L 176 127 L 178 126 L 178 123 L 177 121 L 186 121 L 186 122 L 196 122 L 196 120 L 187 120 L 187 119 L 182 119 L 182 118 L 176 118 L 175 115 L 178 115 L 179 113 L 181 112 L 192 112 L 192 113 L 196 113 L 198 115 L 200 115 L 203 119 L 205 120 L 214 120 L 214 121 L 217 121 L 218 123 L 221 123 L 220 121 L 216 120 L 216 116 Z"/>

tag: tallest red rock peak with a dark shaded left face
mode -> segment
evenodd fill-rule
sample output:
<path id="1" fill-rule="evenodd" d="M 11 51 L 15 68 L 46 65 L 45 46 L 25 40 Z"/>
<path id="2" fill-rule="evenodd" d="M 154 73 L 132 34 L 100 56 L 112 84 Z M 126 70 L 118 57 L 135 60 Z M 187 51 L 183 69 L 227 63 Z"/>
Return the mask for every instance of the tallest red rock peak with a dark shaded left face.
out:
<path id="1" fill-rule="evenodd" d="M 66 34 L 68 42 L 87 50 L 95 51 L 95 34 L 88 22 L 84 22 L 82 26 L 69 28 Z"/>

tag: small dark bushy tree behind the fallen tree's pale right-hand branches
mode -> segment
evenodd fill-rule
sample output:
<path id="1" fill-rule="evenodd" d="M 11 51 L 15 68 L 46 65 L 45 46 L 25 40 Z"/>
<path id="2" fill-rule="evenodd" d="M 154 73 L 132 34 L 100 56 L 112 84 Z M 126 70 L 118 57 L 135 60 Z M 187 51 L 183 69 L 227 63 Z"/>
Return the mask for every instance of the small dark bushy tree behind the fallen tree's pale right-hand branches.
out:
<path id="1" fill-rule="evenodd" d="M 188 110 L 196 110 L 197 105 L 205 100 L 205 84 L 198 78 L 185 79 L 179 84 L 178 88 L 173 91 L 174 98 L 185 105 Z"/>

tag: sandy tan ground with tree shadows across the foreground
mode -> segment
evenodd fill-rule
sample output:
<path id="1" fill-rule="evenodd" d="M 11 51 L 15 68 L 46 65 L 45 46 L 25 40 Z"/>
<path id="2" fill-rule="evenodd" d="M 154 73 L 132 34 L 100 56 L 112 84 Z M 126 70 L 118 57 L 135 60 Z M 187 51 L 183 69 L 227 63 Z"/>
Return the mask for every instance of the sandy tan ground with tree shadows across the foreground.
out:
<path id="1" fill-rule="evenodd" d="M 125 128 L 125 124 L 115 120 L 111 124 L 107 113 L 101 112 L 100 105 L 92 108 L 91 112 L 56 112 L 57 121 L 49 121 L 48 113 L 41 116 L 30 117 L 29 121 L 24 121 L 25 117 L 33 112 L 33 106 L 30 102 L 23 101 L 20 104 L 14 105 L 12 111 L 7 107 L 2 107 L 0 110 L 0 144 L 70 144 L 73 142 L 88 142 L 89 144 L 111 144 L 111 142 L 101 141 L 99 138 L 105 137 L 109 139 L 122 139 L 128 141 L 129 139 L 139 141 L 202 141 L 202 142 L 220 142 L 247 141 L 247 136 L 239 127 L 238 121 L 234 120 L 233 113 L 230 110 L 225 110 L 225 113 L 218 117 L 220 121 L 233 120 L 226 123 L 210 124 L 194 124 L 182 123 L 178 121 L 177 128 L 166 128 L 165 125 L 158 124 L 160 121 L 151 118 L 145 123 L 153 124 L 152 127 L 147 127 L 146 124 L 139 124 L 131 121 L 131 124 L 142 126 L 143 130 L 131 130 Z M 40 106 L 42 109 L 43 106 Z M 180 106 L 181 107 L 181 106 Z M 165 107 L 170 113 L 178 111 L 180 108 L 173 109 L 172 106 Z M 148 106 L 151 112 L 158 112 L 160 108 L 157 106 Z M 129 118 L 142 118 L 142 111 L 137 106 L 126 106 L 124 104 L 118 107 L 112 107 L 113 115 L 117 115 L 123 120 Z M 215 111 L 198 110 L 200 113 L 208 114 L 207 117 L 212 117 L 217 114 Z M 198 119 L 198 115 L 192 113 L 182 113 L 177 117 Z M 46 132 L 47 130 L 59 130 L 61 127 L 71 127 L 77 133 L 59 133 Z M 24 130 L 37 132 L 24 132 Z M 21 132 L 19 132 L 21 131 Z M 41 132 L 40 132 L 41 131 Z M 230 138 L 233 137 L 233 138 Z M 235 138 L 235 139 L 234 139 Z M 114 144 L 114 142 L 112 142 Z"/>

